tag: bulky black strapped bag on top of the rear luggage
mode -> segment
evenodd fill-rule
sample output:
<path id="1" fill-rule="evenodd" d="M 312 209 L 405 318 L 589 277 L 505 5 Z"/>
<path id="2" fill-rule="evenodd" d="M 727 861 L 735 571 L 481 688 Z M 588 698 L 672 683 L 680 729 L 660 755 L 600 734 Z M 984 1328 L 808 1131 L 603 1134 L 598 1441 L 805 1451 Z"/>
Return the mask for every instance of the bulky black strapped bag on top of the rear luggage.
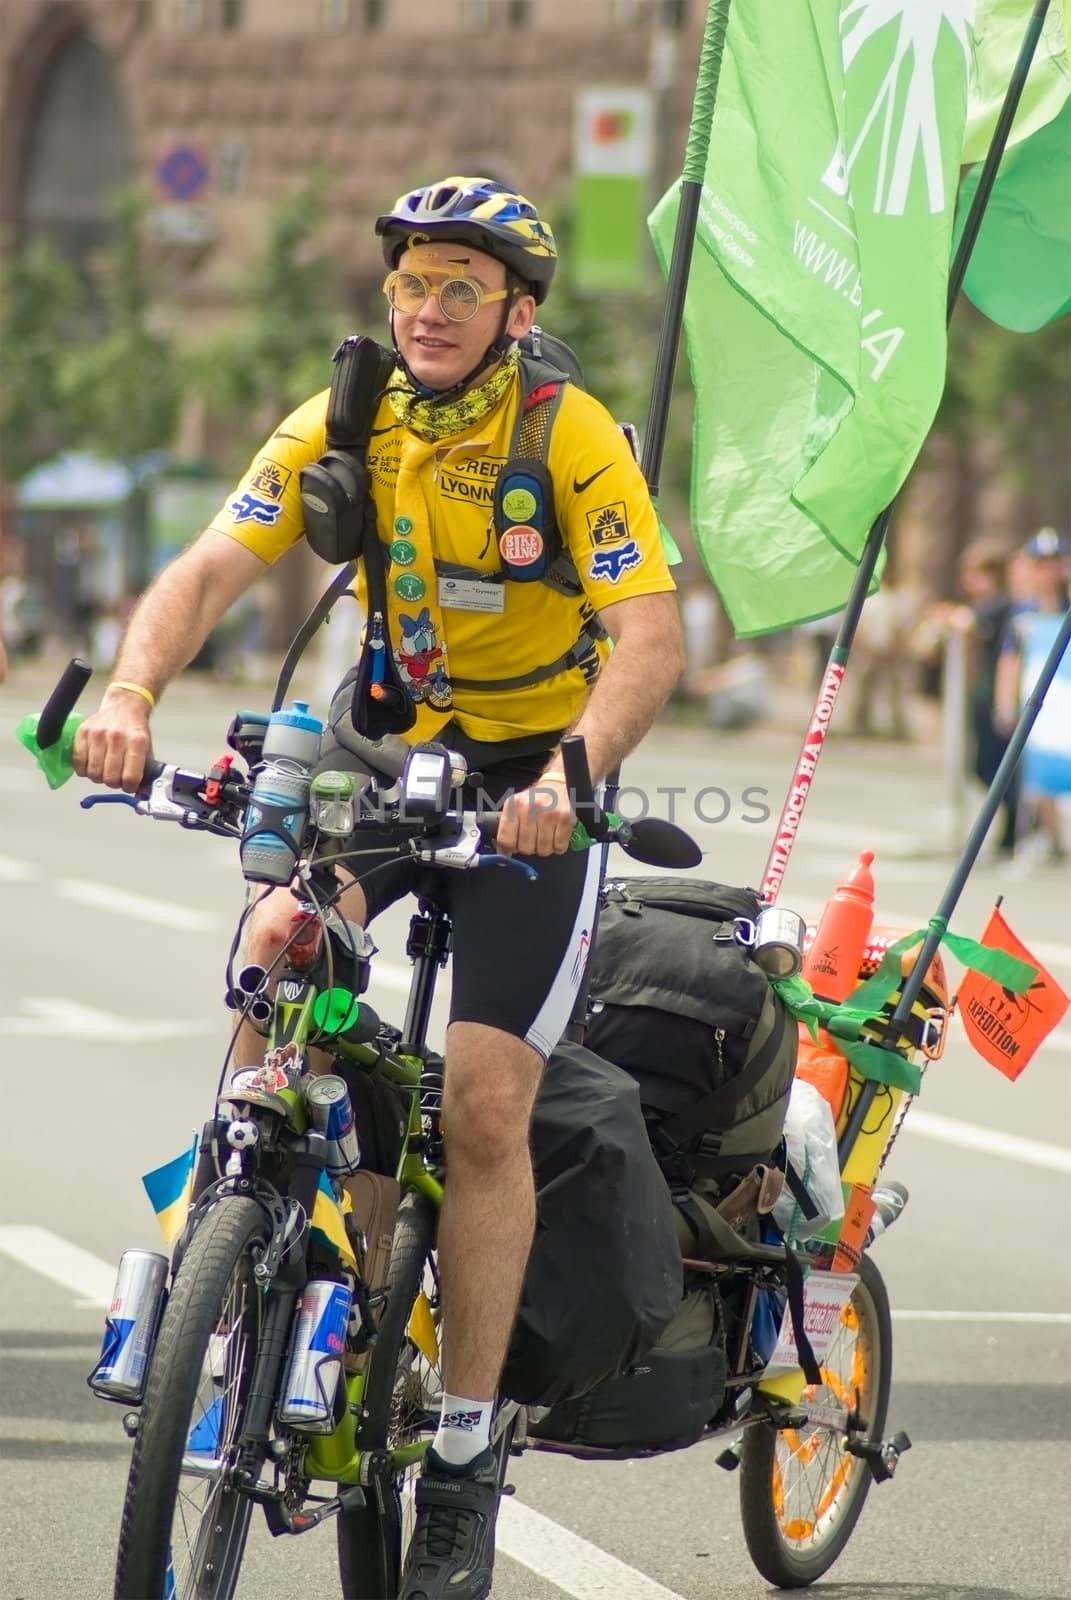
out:
<path id="1" fill-rule="evenodd" d="M 586 1045 L 636 1078 L 672 1186 L 725 1189 L 770 1162 L 784 1128 L 797 1027 L 733 934 L 752 890 L 613 878 L 589 962 Z"/>

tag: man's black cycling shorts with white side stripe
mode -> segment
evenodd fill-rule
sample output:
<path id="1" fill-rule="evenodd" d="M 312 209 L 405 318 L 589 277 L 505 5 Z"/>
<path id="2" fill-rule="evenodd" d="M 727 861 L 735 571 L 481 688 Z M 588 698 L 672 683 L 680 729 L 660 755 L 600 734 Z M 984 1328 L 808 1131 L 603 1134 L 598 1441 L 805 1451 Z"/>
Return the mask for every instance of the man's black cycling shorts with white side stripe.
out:
<path id="1" fill-rule="evenodd" d="M 331 706 L 331 728 L 347 715 L 349 680 Z M 459 750 L 493 805 L 530 787 L 546 768 L 559 734 L 477 744 L 451 725 L 439 742 Z M 370 763 L 325 734 L 319 771 L 368 771 Z M 370 840 L 371 842 L 371 840 Z M 383 830 L 375 843 L 389 843 Z M 572 1016 L 588 960 L 599 893 L 599 851 L 519 856 L 538 872 L 525 882 L 509 867 L 458 872 L 418 861 L 371 856 L 347 861 L 368 902 L 368 922 L 408 893 L 432 893 L 453 923 L 451 1022 L 482 1022 L 523 1038 L 543 1058 L 557 1045 Z"/>

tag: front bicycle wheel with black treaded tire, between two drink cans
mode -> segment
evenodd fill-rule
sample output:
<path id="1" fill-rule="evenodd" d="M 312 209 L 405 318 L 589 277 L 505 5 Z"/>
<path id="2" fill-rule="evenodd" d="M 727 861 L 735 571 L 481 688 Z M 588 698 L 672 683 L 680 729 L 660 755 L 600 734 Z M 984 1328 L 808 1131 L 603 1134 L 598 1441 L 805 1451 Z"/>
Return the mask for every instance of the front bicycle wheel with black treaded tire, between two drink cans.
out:
<path id="1" fill-rule="evenodd" d="M 223 1461 L 226 1443 L 242 1430 L 261 1325 L 253 1250 L 264 1245 L 267 1235 L 267 1219 L 253 1200 L 229 1198 L 208 1211 L 183 1256 L 134 1435 L 118 1534 L 115 1600 L 157 1600 L 165 1594 L 174 1600 L 231 1600 L 234 1595 L 253 1501 L 229 1491 L 219 1478 L 192 1478 L 210 1488 L 195 1522 L 194 1544 L 186 1552 L 176 1549 L 174 1558 L 173 1534 L 181 1523 L 189 1546 L 194 1523 L 186 1517 L 186 1496 L 179 1499 L 184 1459 L 211 1448 L 215 1459 Z M 218 1341 L 215 1347 L 213 1339 Z M 223 1371 L 216 1376 L 219 1341 Z M 202 1389 L 205 1397 L 211 1395 L 208 1405 L 199 1395 Z M 234 1403 L 227 1403 L 229 1395 L 235 1397 Z M 197 1438 L 199 1429 L 202 1438 Z M 203 1464 L 208 1459 L 205 1456 Z M 189 1579 L 184 1555 L 189 1555 Z"/>

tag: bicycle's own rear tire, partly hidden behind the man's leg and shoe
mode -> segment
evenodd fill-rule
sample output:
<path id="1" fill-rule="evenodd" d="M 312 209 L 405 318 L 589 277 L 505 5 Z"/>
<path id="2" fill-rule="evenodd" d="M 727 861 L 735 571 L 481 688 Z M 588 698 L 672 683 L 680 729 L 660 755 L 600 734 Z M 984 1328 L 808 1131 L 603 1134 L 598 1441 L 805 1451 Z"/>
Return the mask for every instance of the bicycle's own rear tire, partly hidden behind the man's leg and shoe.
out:
<path id="1" fill-rule="evenodd" d="M 399 1384 L 413 1370 L 408 1339 L 413 1306 L 435 1242 L 437 1210 L 423 1195 L 408 1194 L 399 1206 L 391 1246 L 386 1302 L 368 1357 L 360 1450 L 397 1443 L 405 1419 L 397 1414 Z M 365 1504 L 338 1517 L 338 1571 L 343 1600 L 383 1600 L 399 1590 L 403 1554 L 402 1475 L 387 1485 L 370 1483 Z"/>

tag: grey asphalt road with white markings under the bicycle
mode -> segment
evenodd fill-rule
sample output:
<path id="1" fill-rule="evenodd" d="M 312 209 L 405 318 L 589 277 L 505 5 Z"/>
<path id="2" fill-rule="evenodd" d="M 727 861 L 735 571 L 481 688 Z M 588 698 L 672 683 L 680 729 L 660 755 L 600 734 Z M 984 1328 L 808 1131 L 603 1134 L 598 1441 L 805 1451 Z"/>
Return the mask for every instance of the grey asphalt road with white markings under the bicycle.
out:
<path id="1" fill-rule="evenodd" d="M 120 1410 L 88 1394 L 101 1299 L 126 1245 L 157 1246 L 139 1178 L 208 1114 L 226 1038 L 223 965 L 242 882 L 226 843 L 122 808 L 82 813 L 19 750 L 42 680 L 0 690 L 0 1600 L 102 1600 L 128 1459 Z M 157 717 L 157 750 L 191 765 L 223 747 L 237 704 L 195 678 Z M 716 739 L 663 725 L 626 770 L 682 784 L 709 877 L 759 882 L 797 738 Z M 879 917 L 933 912 L 951 861 L 932 747 L 831 741 L 783 901 L 813 912 L 860 848 L 876 850 Z M 695 826 L 720 786 L 724 822 Z M 639 802 L 634 803 L 634 810 Z M 706 816 L 724 802 L 704 797 Z M 666 806 L 652 803 L 664 814 Z M 953 926 L 978 933 L 997 893 L 1020 938 L 1071 984 L 1071 869 L 980 866 Z M 371 998 L 400 1011 L 403 917 L 376 925 Z M 962 1035 L 930 1069 L 890 1174 L 911 1189 L 876 1248 L 895 1315 L 890 1424 L 914 1450 L 821 1592 L 836 1600 L 1071 1595 L 1071 1019 L 1009 1083 Z M 42 1229 L 43 1234 L 27 1234 Z M 27 1264 L 29 1262 L 29 1264 Z M 746 1600 L 765 1592 L 736 1483 L 700 1446 L 636 1464 L 528 1454 L 501 1523 L 499 1600 Z M 333 1534 L 258 1530 L 240 1594 L 338 1592 Z"/>

